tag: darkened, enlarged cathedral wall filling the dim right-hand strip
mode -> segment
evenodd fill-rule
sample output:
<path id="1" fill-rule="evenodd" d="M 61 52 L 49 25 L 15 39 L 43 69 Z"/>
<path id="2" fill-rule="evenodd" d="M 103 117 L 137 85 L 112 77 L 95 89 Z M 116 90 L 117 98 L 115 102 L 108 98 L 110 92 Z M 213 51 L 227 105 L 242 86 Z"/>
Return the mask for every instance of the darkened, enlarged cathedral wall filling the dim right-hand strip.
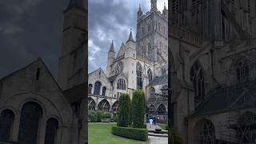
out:
<path id="1" fill-rule="evenodd" d="M 256 2 L 171 0 L 174 128 L 188 144 L 256 142 Z"/>

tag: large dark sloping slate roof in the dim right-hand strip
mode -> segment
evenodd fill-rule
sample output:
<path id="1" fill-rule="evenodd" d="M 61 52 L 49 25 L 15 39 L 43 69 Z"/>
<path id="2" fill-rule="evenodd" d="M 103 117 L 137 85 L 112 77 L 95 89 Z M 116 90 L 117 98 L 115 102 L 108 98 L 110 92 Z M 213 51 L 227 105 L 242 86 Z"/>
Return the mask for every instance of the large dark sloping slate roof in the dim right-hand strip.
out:
<path id="1" fill-rule="evenodd" d="M 256 106 L 256 80 L 211 90 L 194 115 Z"/>

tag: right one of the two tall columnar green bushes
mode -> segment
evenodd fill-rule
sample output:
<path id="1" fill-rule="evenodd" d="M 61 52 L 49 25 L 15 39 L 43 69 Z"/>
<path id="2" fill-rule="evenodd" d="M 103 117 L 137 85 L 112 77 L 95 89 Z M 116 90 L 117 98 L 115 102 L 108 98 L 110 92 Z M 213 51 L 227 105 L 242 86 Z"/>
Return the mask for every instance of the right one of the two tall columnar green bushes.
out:
<path id="1" fill-rule="evenodd" d="M 134 97 L 132 99 L 133 109 L 133 127 L 142 128 L 144 126 L 145 116 L 145 94 L 142 90 L 134 90 Z"/>

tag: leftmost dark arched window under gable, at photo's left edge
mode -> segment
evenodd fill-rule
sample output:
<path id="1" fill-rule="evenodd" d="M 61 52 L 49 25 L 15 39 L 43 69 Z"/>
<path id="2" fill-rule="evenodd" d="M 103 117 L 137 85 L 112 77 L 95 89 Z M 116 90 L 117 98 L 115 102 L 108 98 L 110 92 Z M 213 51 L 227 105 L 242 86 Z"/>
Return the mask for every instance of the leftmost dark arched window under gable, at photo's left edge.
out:
<path id="1" fill-rule="evenodd" d="M 0 116 L 0 142 L 10 141 L 10 134 L 14 124 L 14 112 L 3 110 Z"/>

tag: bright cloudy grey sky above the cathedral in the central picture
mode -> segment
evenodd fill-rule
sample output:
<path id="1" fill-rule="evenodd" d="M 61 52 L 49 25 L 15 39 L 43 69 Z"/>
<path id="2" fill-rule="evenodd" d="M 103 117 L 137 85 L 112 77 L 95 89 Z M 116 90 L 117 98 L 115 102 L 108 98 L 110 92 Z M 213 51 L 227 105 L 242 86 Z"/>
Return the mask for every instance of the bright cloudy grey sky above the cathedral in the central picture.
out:
<path id="1" fill-rule="evenodd" d="M 158 10 L 162 11 L 168 0 L 158 0 Z M 136 14 L 141 4 L 145 14 L 150 10 L 150 0 L 89 0 L 89 72 L 102 67 L 106 70 L 107 52 L 114 40 L 114 50 L 126 42 L 133 31 L 136 34 Z"/>

